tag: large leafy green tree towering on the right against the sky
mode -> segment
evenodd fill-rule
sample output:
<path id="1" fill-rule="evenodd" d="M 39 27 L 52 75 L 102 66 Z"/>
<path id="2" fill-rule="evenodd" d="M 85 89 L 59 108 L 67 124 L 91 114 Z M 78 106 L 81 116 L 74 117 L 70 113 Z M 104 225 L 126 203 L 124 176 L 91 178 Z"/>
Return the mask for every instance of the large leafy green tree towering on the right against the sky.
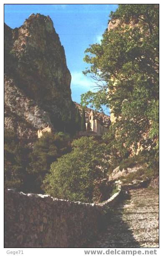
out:
<path id="1" fill-rule="evenodd" d="M 99 90 L 82 95 L 82 104 L 110 107 L 120 148 L 158 147 L 158 5 L 120 4 L 111 18 L 117 25 L 85 51 L 84 74 Z"/>

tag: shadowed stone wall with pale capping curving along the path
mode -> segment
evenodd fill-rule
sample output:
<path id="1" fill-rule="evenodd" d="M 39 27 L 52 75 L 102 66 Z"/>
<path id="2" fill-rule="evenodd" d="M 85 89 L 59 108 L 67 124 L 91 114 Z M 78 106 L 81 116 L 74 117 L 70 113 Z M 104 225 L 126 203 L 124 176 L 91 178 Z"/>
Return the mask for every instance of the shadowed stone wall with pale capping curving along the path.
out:
<path id="1" fill-rule="evenodd" d="M 102 226 L 104 203 L 59 200 L 48 195 L 5 192 L 5 248 L 82 247 Z"/>

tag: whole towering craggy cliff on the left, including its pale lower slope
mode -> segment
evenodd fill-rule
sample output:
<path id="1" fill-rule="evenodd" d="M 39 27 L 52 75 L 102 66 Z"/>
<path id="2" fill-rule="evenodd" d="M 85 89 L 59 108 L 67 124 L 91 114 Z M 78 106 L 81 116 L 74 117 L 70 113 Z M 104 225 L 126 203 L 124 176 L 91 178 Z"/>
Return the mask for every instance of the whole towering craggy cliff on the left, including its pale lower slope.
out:
<path id="1" fill-rule="evenodd" d="M 32 14 L 19 28 L 5 25 L 5 127 L 19 136 L 71 122 L 71 74 L 49 16 Z"/>

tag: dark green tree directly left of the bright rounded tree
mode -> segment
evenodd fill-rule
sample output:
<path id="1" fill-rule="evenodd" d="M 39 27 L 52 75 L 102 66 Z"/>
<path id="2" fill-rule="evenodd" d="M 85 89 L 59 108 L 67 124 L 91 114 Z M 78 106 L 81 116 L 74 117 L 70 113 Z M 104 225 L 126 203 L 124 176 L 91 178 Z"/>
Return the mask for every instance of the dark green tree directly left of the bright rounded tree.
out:
<path id="1" fill-rule="evenodd" d="M 34 143 L 30 154 L 31 191 L 41 193 L 44 176 L 49 172 L 50 165 L 65 153 L 70 151 L 69 136 L 63 132 L 53 134 L 44 132 L 43 136 Z"/>

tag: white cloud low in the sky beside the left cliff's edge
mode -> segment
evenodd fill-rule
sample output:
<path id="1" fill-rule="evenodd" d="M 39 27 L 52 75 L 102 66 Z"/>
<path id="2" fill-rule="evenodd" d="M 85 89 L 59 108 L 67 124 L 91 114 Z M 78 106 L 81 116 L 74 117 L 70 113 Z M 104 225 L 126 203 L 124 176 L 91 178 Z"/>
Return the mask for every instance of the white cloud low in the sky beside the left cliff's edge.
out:
<path id="1" fill-rule="evenodd" d="M 93 84 L 92 79 L 84 76 L 84 74 L 82 74 L 82 71 L 74 71 L 71 73 L 71 85 L 91 88 Z"/>

